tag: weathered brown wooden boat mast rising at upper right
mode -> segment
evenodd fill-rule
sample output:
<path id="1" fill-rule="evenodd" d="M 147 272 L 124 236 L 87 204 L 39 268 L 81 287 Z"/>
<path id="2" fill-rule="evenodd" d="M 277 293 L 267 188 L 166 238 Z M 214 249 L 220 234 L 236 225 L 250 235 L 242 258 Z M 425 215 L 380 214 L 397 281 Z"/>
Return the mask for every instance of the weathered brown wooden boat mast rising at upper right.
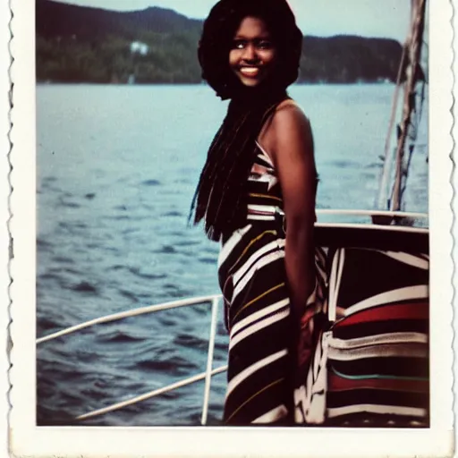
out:
<path id="1" fill-rule="evenodd" d="M 411 113 L 415 109 L 415 85 L 420 72 L 420 56 L 425 27 L 426 0 L 411 0 L 411 34 L 407 42 L 409 66 L 404 83 L 403 118 L 398 125 L 398 141 L 395 155 L 394 187 L 390 199 L 390 210 L 401 211 L 403 190 L 408 174 L 404 158 L 405 143 L 411 125 Z M 412 148 L 412 147 L 411 147 Z"/>

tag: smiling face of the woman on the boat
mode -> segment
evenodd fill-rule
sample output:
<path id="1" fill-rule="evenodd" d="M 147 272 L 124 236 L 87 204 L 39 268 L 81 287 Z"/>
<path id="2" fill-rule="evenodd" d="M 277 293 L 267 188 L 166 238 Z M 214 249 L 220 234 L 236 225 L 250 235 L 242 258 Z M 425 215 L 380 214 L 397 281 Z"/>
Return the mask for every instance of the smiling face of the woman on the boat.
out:
<path id="1" fill-rule="evenodd" d="M 246 17 L 235 32 L 229 65 L 244 86 L 255 87 L 272 72 L 276 47 L 262 19 Z"/>

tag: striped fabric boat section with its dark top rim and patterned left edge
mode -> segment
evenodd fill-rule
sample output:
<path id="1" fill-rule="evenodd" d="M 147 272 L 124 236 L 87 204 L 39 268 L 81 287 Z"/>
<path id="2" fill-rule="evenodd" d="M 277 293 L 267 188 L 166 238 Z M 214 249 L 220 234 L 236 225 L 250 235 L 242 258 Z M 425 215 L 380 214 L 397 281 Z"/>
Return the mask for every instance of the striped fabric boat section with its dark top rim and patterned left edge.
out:
<path id="1" fill-rule="evenodd" d="M 317 239 L 327 326 L 294 393 L 296 422 L 427 428 L 428 233 L 318 227 Z"/>

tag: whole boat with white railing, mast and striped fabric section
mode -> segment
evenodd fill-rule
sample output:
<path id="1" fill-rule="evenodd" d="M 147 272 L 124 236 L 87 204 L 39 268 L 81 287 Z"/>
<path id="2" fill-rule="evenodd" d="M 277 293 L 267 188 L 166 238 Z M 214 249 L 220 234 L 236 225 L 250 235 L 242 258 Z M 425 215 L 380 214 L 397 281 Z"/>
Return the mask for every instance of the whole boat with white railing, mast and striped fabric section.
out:
<path id="1" fill-rule="evenodd" d="M 403 48 L 394 94 L 393 113 L 403 85 L 403 118 L 398 125 L 391 192 L 387 191 L 387 183 L 392 175 L 389 139 L 394 129 L 394 116 L 386 141 L 377 209 L 317 211 L 316 240 L 327 253 L 329 327 L 320 336 L 320 352 L 312 361 L 307 376 L 308 392 L 303 394 L 308 397 L 310 405 L 323 405 L 323 411 L 318 419 L 315 412 L 310 411 L 309 417 L 306 414 L 302 419 L 304 422 L 324 424 L 326 420 L 334 426 L 380 426 L 379 422 L 371 424 L 375 416 L 386 419 L 386 427 L 399 426 L 395 420 L 397 417 L 404 420 L 401 426 L 428 427 L 429 424 L 428 215 L 406 212 L 403 206 L 409 157 L 415 145 L 413 137 L 409 140 L 411 143 L 407 143 L 411 114 L 415 110 L 413 100 L 418 81 L 426 1 L 412 0 L 411 5 L 411 31 Z M 404 71 L 407 77 L 402 83 Z M 409 151 L 407 155 L 406 149 Z M 342 216 L 352 218 L 352 222 L 322 221 Z M 362 222 L 353 222 L 355 218 L 360 218 Z M 383 270 L 383 275 L 379 275 L 379 269 Z M 211 306 L 211 322 L 205 372 L 123 402 L 88 411 L 75 419 L 89 420 L 205 380 L 200 421 L 206 425 L 211 379 L 227 369 L 225 365 L 215 368 L 213 364 L 220 302 L 221 296 L 214 294 L 128 310 L 39 337 L 37 344 L 124 318 L 208 303 Z M 385 327 L 384 331 L 380 330 L 380 323 Z M 361 327 L 356 329 L 358 325 L 364 325 L 364 329 L 369 331 L 361 334 Z M 361 361 L 368 363 L 372 360 L 374 366 L 369 368 L 368 374 Z M 395 374 L 390 372 L 386 361 L 395 363 Z M 371 373 L 372 369 L 377 373 Z M 366 389 L 368 384 L 372 393 Z M 388 385 L 389 389 L 385 389 Z M 357 390 L 359 402 L 346 395 L 352 390 Z M 374 393 L 384 394 L 386 399 L 375 402 Z M 405 394 L 404 398 L 402 394 Z M 324 402 L 323 396 L 326 398 Z M 361 411 L 363 415 L 354 420 L 354 415 Z"/>

